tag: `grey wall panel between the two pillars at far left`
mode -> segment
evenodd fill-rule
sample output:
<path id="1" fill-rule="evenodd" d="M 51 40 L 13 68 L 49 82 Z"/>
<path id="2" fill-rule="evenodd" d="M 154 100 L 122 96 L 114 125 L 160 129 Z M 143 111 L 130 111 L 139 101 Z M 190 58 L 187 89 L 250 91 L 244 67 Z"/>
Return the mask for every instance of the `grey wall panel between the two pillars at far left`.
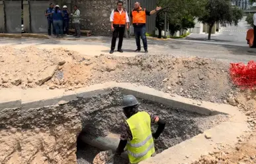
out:
<path id="1" fill-rule="evenodd" d="M 7 33 L 21 34 L 21 1 L 5 1 Z"/>

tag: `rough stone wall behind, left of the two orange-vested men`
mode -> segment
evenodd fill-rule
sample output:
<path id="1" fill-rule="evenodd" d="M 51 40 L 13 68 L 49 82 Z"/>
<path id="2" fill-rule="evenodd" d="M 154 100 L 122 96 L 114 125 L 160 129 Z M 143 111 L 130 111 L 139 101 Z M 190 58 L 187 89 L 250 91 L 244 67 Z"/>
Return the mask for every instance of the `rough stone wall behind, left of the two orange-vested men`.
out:
<path id="1" fill-rule="evenodd" d="M 116 8 L 116 0 L 78 0 L 72 1 L 81 11 L 81 29 L 91 30 L 93 35 L 108 36 L 110 32 L 109 16 Z M 126 0 L 124 0 L 126 7 Z"/>

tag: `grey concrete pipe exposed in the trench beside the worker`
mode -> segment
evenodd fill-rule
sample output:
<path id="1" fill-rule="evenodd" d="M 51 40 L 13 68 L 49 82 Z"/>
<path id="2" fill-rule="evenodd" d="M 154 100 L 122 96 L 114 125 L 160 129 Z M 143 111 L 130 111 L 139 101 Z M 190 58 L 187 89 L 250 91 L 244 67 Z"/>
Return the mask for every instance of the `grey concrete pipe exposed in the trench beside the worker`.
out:
<path id="1" fill-rule="evenodd" d="M 99 148 L 99 150 L 103 151 L 112 150 L 114 152 L 119 144 L 119 138 L 113 138 L 110 136 L 95 137 L 89 134 L 82 134 L 80 138 L 86 144 Z M 127 151 L 124 151 L 120 156 L 124 159 L 128 159 Z"/>

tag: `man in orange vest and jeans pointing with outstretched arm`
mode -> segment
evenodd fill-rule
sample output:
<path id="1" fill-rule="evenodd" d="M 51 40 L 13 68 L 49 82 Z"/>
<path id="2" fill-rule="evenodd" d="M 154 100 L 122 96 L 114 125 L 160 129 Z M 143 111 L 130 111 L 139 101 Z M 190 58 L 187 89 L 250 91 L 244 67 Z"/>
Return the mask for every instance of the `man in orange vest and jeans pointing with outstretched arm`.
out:
<path id="1" fill-rule="evenodd" d="M 134 3 L 134 9 L 130 13 L 130 17 L 132 18 L 132 24 L 134 26 L 134 34 L 136 39 L 137 49 L 136 52 L 140 52 L 140 37 L 142 38 L 143 46 L 145 53 L 148 53 L 148 43 L 146 38 L 146 16 L 155 14 L 159 11 L 161 7 L 155 8 L 153 11 L 148 11 L 146 9 L 142 9 L 140 7 L 140 3 Z"/>

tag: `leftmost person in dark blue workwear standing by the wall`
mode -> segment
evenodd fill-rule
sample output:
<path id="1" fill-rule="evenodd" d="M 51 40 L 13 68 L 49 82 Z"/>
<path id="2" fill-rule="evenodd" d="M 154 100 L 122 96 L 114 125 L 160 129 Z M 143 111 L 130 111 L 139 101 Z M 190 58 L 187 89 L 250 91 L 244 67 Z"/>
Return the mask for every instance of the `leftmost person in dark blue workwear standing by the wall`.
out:
<path id="1" fill-rule="evenodd" d="M 55 11 L 52 13 L 52 19 L 54 20 L 57 38 L 63 37 L 63 16 L 64 14 L 60 11 L 60 6 L 56 5 Z"/>

